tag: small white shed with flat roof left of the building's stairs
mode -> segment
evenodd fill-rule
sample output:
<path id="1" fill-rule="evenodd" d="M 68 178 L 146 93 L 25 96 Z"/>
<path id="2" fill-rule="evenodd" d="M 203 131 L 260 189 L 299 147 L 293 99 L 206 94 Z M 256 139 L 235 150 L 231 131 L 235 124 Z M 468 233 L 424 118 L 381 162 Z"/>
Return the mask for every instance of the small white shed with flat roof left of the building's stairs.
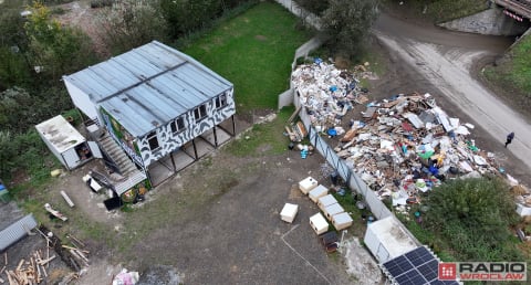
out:
<path id="1" fill-rule="evenodd" d="M 102 157 L 97 144 L 87 141 L 61 115 L 37 125 L 35 128 L 48 148 L 69 170 L 87 162 L 94 157 Z"/>

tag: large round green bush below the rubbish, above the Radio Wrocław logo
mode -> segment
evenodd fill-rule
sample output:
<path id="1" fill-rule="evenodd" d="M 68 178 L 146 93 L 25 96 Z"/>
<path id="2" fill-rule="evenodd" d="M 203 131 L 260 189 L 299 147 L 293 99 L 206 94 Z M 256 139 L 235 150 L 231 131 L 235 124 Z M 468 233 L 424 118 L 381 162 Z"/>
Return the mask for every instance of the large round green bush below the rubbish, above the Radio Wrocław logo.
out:
<path id="1" fill-rule="evenodd" d="M 518 222 L 509 187 L 498 178 L 458 179 L 424 200 L 425 226 L 465 260 L 518 260 L 509 228 Z"/>

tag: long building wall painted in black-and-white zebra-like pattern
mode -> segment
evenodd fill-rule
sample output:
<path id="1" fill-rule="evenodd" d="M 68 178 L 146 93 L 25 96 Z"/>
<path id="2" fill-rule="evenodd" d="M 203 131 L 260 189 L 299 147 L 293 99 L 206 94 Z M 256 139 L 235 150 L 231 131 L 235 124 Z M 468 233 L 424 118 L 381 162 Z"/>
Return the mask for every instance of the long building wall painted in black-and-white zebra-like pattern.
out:
<path id="1" fill-rule="evenodd" d="M 154 161 L 169 155 L 179 149 L 186 142 L 200 136 L 206 130 L 214 128 L 221 122 L 230 118 L 236 113 L 236 104 L 233 97 L 233 89 L 225 93 L 227 96 L 227 105 L 225 107 L 216 108 L 216 98 L 208 101 L 205 104 L 207 116 L 199 122 L 196 122 L 194 109 L 188 110 L 181 115 L 184 119 L 184 129 L 174 133 L 170 123 L 165 126 L 154 129 L 158 139 L 159 148 L 152 151 L 148 141 L 148 135 L 138 138 L 138 149 L 144 161 L 144 167 L 148 167 Z M 176 118 L 177 119 L 177 118 Z"/>

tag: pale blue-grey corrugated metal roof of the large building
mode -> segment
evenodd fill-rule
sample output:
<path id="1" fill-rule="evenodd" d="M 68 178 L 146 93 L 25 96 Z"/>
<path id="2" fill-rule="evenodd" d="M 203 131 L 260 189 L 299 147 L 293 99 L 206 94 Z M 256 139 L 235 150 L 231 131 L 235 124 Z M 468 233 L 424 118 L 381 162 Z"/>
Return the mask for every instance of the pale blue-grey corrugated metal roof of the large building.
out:
<path id="1" fill-rule="evenodd" d="M 157 41 L 63 78 L 135 137 L 232 88 L 201 63 Z"/>

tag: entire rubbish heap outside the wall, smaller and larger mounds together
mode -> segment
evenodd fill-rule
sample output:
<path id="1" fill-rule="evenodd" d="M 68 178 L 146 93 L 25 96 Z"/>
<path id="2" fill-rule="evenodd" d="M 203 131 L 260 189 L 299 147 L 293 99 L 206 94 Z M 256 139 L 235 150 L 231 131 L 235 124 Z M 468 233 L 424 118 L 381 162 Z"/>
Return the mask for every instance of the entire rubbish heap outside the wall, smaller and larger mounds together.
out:
<path id="1" fill-rule="evenodd" d="M 467 138 L 473 125 L 449 117 L 430 94 L 366 104 L 357 80 L 325 63 L 300 66 L 292 81 L 312 125 L 329 137 L 341 136 L 336 154 L 395 207 L 419 203 L 420 192 L 447 178 L 504 172 L 492 152 Z M 341 119 L 354 104 L 366 109 L 344 129 Z"/>

